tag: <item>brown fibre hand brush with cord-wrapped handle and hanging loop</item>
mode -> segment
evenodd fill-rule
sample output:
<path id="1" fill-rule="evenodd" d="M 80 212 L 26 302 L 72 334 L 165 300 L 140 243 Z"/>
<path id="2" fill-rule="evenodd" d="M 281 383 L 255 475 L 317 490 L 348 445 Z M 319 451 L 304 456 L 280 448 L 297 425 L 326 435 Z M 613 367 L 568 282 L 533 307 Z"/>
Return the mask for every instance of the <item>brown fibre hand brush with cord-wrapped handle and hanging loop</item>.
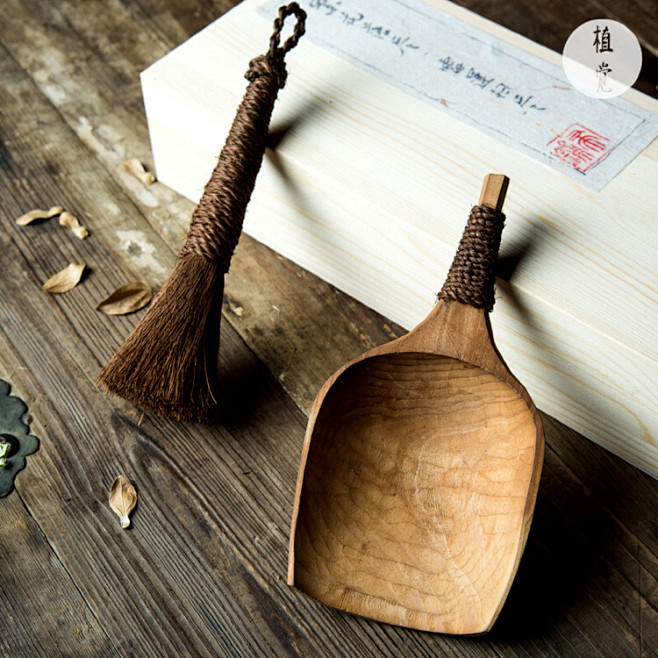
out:
<path id="1" fill-rule="evenodd" d="M 290 15 L 297 23 L 279 46 Z M 178 419 L 214 418 L 224 274 L 263 160 L 274 101 L 286 81 L 284 57 L 304 33 L 305 20 L 297 3 L 281 7 L 269 51 L 250 62 L 249 85 L 192 215 L 178 263 L 100 373 L 100 384 L 110 393 Z"/>

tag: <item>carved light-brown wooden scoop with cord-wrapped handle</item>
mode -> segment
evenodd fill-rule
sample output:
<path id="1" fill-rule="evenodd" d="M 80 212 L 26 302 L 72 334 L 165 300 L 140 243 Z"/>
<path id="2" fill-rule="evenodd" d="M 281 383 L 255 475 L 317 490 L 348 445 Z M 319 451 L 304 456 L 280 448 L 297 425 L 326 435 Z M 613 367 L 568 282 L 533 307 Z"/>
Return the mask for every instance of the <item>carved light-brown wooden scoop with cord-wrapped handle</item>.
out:
<path id="1" fill-rule="evenodd" d="M 505 602 L 544 454 L 537 410 L 498 354 L 487 310 L 472 305 L 493 304 L 508 182 L 485 179 L 427 319 L 345 365 L 315 399 L 288 583 L 323 603 L 476 634 Z M 478 210 L 491 215 L 487 230 Z M 469 286 L 468 303 L 455 301 Z"/>

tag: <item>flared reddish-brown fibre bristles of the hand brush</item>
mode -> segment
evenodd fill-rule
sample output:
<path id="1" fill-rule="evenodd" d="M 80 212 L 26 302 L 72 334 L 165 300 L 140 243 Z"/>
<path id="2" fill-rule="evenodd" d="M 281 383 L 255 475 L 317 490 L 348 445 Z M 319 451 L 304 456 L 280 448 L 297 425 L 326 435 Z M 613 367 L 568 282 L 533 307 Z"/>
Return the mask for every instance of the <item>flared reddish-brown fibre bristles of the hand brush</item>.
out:
<path id="1" fill-rule="evenodd" d="M 101 371 L 101 387 L 165 416 L 214 420 L 223 294 L 221 268 L 183 256 Z"/>

